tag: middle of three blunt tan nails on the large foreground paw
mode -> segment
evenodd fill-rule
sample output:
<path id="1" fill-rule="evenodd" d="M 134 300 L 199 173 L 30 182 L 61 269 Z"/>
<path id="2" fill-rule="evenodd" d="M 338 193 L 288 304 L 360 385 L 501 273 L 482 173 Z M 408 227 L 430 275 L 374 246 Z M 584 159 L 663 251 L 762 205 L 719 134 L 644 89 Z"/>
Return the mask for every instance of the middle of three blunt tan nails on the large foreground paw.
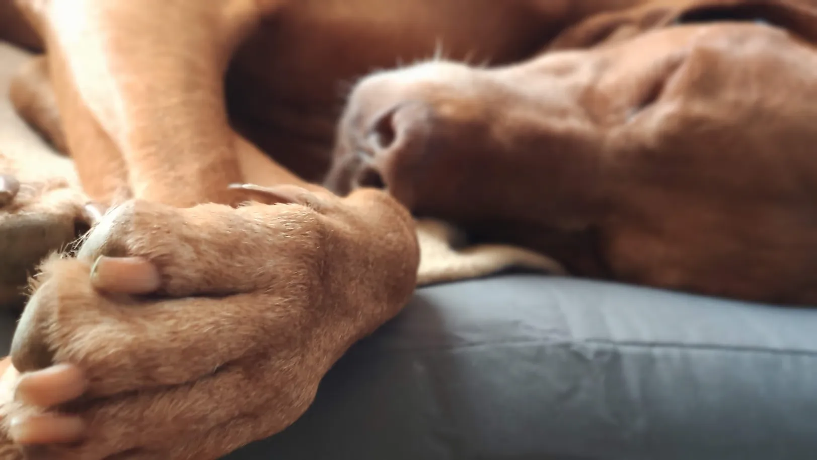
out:
<path id="1" fill-rule="evenodd" d="M 20 377 L 14 399 L 44 409 L 76 400 L 87 390 L 88 382 L 76 366 L 57 364 Z"/>

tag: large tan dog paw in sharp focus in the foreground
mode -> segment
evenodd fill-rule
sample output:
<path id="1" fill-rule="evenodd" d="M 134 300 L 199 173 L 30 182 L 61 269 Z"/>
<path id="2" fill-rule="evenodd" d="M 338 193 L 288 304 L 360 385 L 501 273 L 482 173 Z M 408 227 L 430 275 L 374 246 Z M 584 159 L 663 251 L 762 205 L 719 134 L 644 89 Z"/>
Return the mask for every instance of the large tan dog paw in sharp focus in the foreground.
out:
<path id="1" fill-rule="evenodd" d="M 219 458 L 300 417 L 408 300 L 417 242 L 385 194 L 250 191 L 279 204 L 126 203 L 44 264 L 0 459 Z"/>

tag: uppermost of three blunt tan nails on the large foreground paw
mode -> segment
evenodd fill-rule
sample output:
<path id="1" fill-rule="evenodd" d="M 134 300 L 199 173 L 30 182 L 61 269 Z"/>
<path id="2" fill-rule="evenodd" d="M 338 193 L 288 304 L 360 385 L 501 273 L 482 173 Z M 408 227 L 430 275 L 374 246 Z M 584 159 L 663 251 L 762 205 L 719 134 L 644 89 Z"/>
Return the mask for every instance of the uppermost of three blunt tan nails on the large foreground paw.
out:
<path id="1" fill-rule="evenodd" d="M 109 293 L 150 294 L 162 286 L 162 276 L 143 257 L 100 256 L 91 269 L 91 284 Z"/>

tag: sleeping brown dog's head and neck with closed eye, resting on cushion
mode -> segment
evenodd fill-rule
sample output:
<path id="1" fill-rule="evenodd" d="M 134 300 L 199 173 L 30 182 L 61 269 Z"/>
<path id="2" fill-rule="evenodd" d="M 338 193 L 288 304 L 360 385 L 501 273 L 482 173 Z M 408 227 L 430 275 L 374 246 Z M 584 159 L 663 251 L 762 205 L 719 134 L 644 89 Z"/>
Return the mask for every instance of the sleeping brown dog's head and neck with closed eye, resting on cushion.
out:
<path id="1" fill-rule="evenodd" d="M 710 3 L 595 16 L 518 65 L 374 74 L 328 184 L 578 275 L 815 305 L 817 11 Z"/>

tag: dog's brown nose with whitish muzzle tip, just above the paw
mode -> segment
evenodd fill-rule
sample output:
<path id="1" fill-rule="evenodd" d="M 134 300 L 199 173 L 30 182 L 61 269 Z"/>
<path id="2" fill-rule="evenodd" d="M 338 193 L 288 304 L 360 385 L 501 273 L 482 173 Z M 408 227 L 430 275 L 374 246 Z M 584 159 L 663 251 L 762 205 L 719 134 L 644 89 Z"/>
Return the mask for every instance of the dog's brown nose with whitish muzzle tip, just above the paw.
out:
<path id="1" fill-rule="evenodd" d="M 408 205 L 417 194 L 417 176 L 428 168 L 431 147 L 438 150 L 438 140 L 445 138 L 452 107 L 445 101 L 457 88 L 451 82 L 471 72 L 463 65 L 430 63 L 361 80 L 342 114 L 324 185 L 337 194 L 386 189 Z"/>

